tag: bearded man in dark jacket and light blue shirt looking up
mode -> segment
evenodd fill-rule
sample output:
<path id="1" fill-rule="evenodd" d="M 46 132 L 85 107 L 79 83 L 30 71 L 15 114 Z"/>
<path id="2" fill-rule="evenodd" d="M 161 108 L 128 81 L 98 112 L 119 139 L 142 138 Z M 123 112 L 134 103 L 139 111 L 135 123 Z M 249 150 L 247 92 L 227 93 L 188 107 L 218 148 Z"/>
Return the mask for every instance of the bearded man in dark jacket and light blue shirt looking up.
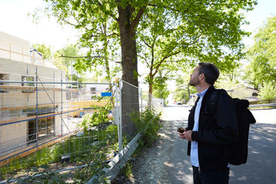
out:
<path id="1" fill-rule="evenodd" d="M 219 95 L 215 116 L 209 103 L 215 91 L 219 70 L 213 63 L 199 63 L 190 74 L 189 85 L 195 86 L 198 98 L 190 110 L 188 127 L 180 133 L 188 140 L 188 155 L 193 166 L 194 184 L 222 184 L 229 181 L 229 145 L 237 141 L 235 105 L 226 93 Z"/>

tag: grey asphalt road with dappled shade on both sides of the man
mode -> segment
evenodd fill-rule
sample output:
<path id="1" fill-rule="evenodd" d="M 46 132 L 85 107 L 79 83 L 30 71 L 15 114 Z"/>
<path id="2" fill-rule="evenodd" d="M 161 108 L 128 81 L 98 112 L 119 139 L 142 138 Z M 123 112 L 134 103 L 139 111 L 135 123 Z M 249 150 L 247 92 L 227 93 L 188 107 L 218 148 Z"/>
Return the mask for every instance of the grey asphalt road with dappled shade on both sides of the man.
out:
<path id="1" fill-rule="evenodd" d="M 161 138 L 132 163 L 130 183 L 193 183 L 187 142 L 177 134 L 177 127 L 187 125 L 188 109 L 188 105 L 164 108 Z M 250 126 L 248 161 L 230 165 L 230 184 L 276 183 L 276 109 L 254 110 L 253 114 L 257 123 Z"/>

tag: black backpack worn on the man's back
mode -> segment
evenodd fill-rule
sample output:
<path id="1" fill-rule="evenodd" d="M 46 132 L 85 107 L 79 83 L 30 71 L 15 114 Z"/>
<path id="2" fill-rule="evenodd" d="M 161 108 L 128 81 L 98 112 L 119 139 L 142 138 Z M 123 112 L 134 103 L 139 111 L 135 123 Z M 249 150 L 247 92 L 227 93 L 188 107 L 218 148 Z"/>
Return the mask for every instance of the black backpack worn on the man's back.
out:
<path id="1" fill-rule="evenodd" d="M 221 93 L 226 90 L 216 89 L 210 98 L 210 113 L 214 114 L 217 108 L 217 102 Z M 249 101 L 244 99 L 233 99 L 237 113 L 237 127 L 239 139 L 230 146 L 229 163 L 232 165 L 241 165 L 246 163 L 248 154 L 248 134 L 250 124 L 256 123 L 253 114 L 248 110 Z"/>

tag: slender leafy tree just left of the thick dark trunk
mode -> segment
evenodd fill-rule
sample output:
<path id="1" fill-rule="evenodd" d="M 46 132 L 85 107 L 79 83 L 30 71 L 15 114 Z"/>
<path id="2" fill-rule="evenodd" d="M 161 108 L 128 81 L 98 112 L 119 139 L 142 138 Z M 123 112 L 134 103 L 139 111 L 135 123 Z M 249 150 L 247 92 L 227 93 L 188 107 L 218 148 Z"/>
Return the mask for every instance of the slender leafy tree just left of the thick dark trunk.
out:
<path id="1" fill-rule="evenodd" d="M 88 52 L 86 57 L 77 60 L 75 67 L 77 70 L 98 72 L 104 77 L 104 81 L 112 83 L 112 79 L 121 72 L 119 67 L 121 55 L 116 36 L 118 30 L 110 19 L 93 26 L 95 26 L 94 32 L 84 33 L 79 40 L 80 47 L 88 48 Z"/>

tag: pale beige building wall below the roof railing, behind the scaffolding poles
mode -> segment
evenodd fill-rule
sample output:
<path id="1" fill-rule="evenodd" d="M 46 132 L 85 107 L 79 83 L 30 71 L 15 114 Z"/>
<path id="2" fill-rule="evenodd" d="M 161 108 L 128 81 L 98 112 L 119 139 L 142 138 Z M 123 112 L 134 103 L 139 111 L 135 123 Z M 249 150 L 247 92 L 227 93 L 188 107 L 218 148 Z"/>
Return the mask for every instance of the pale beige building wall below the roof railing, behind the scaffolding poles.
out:
<path id="1" fill-rule="evenodd" d="M 61 70 L 0 57 L 0 74 L 6 74 L 4 80 L 21 81 L 22 76 L 33 76 L 34 81 L 36 81 L 36 70 L 41 81 L 61 82 L 61 78 L 65 81 L 66 73 L 61 72 Z M 22 119 L 27 119 L 28 117 L 23 110 L 30 106 L 35 108 L 37 103 L 39 106 L 53 108 L 52 102 L 55 101 L 59 111 L 61 111 L 61 84 L 38 84 L 38 92 L 35 90 L 32 92 L 27 92 L 26 89 L 23 90 L 21 83 L 2 83 L 2 85 L 8 85 L 10 89 L 2 88 L 1 90 L 6 90 L 7 92 L 0 92 L 0 156 L 6 154 L 6 152 L 19 150 L 27 146 L 28 121 L 22 121 Z M 34 84 L 32 89 L 35 89 L 35 86 Z M 44 88 L 47 90 L 45 91 Z M 65 89 L 66 86 L 63 85 L 62 88 Z M 48 96 L 50 96 L 52 101 Z M 62 94 L 62 101 L 66 101 L 66 92 Z M 12 121 L 17 120 L 21 120 L 21 122 L 12 123 Z M 7 122 L 10 124 L 3 125 Z M 57 115 L 55 116 L 55 136 L 59 134 L 61 134 L 61 118 Z"/>

